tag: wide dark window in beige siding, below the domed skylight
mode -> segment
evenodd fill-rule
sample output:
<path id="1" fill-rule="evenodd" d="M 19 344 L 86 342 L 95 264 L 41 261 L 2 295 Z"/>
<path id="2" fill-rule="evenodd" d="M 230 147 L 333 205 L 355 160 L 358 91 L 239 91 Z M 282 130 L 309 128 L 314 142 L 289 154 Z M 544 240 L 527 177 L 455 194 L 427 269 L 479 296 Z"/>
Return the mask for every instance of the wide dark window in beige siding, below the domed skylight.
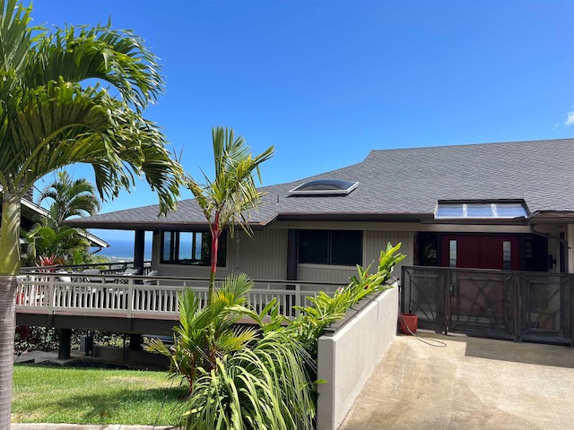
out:
<path id="1" fill-rule="evenodd" d="M 354 266 L 362 262 L 362 232 L 300 230 L 299 262 Z"/>

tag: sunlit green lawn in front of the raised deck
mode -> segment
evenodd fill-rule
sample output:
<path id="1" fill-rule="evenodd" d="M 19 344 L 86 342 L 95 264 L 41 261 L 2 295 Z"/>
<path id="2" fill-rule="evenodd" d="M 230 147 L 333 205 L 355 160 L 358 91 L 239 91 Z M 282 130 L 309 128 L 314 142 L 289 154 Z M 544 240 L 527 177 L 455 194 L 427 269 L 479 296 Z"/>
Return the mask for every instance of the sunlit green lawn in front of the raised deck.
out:
<path id="1" fill-rule="evenodd" d="M 174 426 L 186 393 L 162 372 L 16 365 L 12 421 Z"/>

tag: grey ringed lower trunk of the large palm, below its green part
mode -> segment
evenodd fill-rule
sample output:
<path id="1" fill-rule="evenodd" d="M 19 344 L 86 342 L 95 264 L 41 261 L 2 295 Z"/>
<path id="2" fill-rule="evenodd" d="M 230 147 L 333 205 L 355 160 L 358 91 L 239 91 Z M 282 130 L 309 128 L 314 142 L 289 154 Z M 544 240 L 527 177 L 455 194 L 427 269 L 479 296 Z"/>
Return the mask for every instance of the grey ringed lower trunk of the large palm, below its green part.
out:
<path id="1" fill-rule="evenodd" d="M 15 276 L 0 276 L 0 429 L 10 428 L 14 331 L 16 330 Z"/>

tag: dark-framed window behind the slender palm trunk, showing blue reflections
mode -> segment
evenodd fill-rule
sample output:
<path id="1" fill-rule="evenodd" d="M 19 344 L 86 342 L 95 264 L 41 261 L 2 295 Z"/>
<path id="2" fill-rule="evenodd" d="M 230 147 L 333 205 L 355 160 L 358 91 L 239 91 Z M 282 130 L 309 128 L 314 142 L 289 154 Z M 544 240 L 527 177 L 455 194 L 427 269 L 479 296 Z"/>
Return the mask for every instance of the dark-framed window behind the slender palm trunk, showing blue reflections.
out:
<path id="1" fill-rule="evenodd" d="M 161 262 L 167 264 L 211 264 L 212 235 L 210 231 L 164 231 L 161 237 Z M 217 265 L 225 266 L 227 235 L 219 238 Z"/>

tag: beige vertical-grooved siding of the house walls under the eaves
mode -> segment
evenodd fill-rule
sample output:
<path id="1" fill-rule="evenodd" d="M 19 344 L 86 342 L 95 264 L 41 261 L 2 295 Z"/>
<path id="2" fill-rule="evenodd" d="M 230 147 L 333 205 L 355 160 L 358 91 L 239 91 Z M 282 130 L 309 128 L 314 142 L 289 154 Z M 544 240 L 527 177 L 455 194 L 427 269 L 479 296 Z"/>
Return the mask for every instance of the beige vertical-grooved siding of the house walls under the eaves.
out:
<path id="1" fill-rule="evenodd" d="M 288 231 L 289 229 L 325 228 L 325 229 L 361 229 L 363 231 L 362 266 L 374 269 L 378 256 L 387 243 L 396 245 L 402 243 L 400 252 L 406 255 L 403 262 L 396 267 L 394 275 L 401 273 L 403 265 L 413 265 L 414 237 L 420 231 L 431 232 L 465 232 L 465 233 L 532 233 L 527 226 L 460 226 L 460 225 L 422 225 L 418 223 L 350 223 L 350 222 L 277 222 L 270 228 L 254 231 L 249 237 L 241 230 L 236 230 L 235 237 L 228 237 L 227 263 L 218 267 L 218 278 L 223 278 L 232 272 L 245 272 L 254 280 L 285 280 L 287 272 Z M 544 230 L 546 232 L 546 230 Z M 547 233 L 559 236 L 561 232 L 569 246 L 574 244 L 574 225 L 547 228 Z M 161 264 L 161 232 L 153 235 L 152 266 L 165 276 L 209 277 L 209 267 Z M 551 271 L 561 271 L 560 241 L 549 240 L 548 254 L 556 259 Z M 566 258 L 568 270 L 574 271 L 574 253 L 568 249 Z M 351 266 L 328 266 L 319 264 L 297 264 L 297 279 L 322 282 L 346 282 L 356 274 L 356 268 Z"/>

